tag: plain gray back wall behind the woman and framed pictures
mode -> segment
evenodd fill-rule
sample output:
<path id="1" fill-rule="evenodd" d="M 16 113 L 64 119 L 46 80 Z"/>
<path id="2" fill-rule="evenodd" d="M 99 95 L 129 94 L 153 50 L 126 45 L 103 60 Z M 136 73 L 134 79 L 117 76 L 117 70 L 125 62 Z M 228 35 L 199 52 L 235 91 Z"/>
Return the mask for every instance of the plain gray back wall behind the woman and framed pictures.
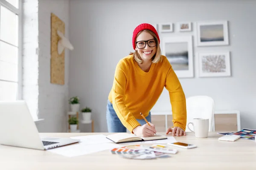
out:
<path id="1" fill-rule="evenodd" d="M 241 127 L 256 129 L 256 1 L 253 0 L 72 0 L 70 2 L 69 95 L 93 109 L 96 132 L 106 132 L 106 104 L 117 62 L 133 51 L 134 28 L 140 23 L 228 20 L 230 45 L 194 47 L 199 51 L 230 51 L 231 77 L 180 78 L 186 97 L 208 95 L 216 110 L 241 111 Z M 180 35 L 166 33 L 166 36 Z M 163 34 L 160 35 L 162 38 Z M 195 40 L 195 39 L 194 39 Z M 195 42 L 195 41 L 194 41 Z M 169 94 L 152 111 L 170 111 Z M 86 131 L 86 130 L 84 130 Z"/>

